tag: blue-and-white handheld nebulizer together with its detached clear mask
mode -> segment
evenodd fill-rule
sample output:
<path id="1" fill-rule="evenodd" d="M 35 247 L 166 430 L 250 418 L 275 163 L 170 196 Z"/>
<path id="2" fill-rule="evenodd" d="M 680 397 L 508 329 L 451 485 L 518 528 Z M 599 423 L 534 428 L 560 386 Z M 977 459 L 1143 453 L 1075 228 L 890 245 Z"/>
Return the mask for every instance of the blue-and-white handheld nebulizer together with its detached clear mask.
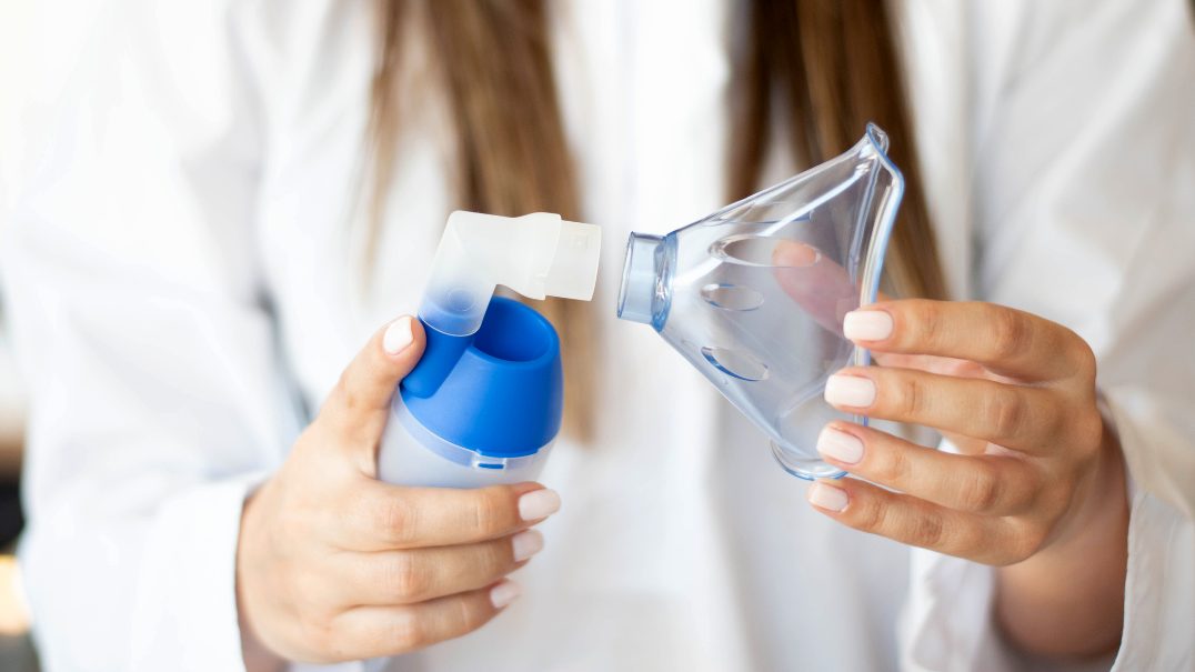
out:
<path id="1" fill-rule="evenodd" d="M 869 364 L 842 319 L 876 299 L 903 195 L 887 149 L 869 124 L 835 159 L 667 236 L 627 242 L 618 316 L 650 324 L 802 478 L 842 475 L 815 447 L 827 422 L 866 422 L 822 392 L 836 371 Z M 497 282 L 532 298 L 588 299 L 599 242 L 596 227 L 554 215 L 453 215 L 419 307 L 428 348 L 394 395 L 384 479 L 477 487 L 538 476 L 560 426 L 559 341 L 532 308 L 490 294 Z"/>

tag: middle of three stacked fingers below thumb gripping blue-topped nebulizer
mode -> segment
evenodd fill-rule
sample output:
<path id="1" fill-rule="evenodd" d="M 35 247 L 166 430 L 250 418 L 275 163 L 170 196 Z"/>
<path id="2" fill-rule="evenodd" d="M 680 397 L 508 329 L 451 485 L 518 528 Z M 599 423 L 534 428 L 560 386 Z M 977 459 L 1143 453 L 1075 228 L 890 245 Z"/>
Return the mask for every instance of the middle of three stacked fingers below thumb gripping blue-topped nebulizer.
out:
<path id="1" fill-rule="evenodd" d="M 523 530 L 478 544 L 348 554 L 338 585 L 353 606 L 415 604 L 484 588 L 543 548 L 539 530 Z"/>

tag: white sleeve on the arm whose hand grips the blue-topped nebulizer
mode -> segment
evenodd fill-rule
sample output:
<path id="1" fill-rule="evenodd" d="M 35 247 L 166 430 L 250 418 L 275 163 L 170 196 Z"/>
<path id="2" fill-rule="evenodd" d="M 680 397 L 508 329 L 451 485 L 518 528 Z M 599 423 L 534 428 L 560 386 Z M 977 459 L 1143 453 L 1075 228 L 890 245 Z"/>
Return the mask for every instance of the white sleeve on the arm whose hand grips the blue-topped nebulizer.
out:
<path id="1" fill-rule="evenodd" d="M 250 8 L 59 6 L 93 28 L 27 112 L 49 133 L 4 245 L 32 393 L 19 552 L 51 672 L 244 670 L 241 505 L 298 426 L 253 270 Z"/>

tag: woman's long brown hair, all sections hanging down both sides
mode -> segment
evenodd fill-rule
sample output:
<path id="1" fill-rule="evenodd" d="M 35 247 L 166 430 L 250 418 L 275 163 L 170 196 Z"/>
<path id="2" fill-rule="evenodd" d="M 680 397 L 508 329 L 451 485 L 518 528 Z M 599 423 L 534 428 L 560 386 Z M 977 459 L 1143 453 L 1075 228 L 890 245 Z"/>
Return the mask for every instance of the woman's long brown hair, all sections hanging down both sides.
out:
<path id="1" fill-rule="evenodd" d="M 891 139 L 891 157 L 908 181 L 889 246 L 889 277 L 903 294 L 944 298 L 884 1 L 743 1 L 749 22 L 735 59 L 730 198 L 762 187 L 774 103 L 786 110 L 789 149 L 805 166 L 845 152 L 866 122 L 875 121 Z M 379 2 L 381 39 L 370 117 L 376 146 L 374 225 L 394 165 L 400 55 L 412 28 L 429 38 L 453 111 L 459 207 L 508 216 L 554 212 L 577 220 L 576 171 L 557 100 L 546 1 Z M 565 429 L 586 440 L 595 403 L 595 308 L 552 299 L 537 307 L 560 332 Z"/>

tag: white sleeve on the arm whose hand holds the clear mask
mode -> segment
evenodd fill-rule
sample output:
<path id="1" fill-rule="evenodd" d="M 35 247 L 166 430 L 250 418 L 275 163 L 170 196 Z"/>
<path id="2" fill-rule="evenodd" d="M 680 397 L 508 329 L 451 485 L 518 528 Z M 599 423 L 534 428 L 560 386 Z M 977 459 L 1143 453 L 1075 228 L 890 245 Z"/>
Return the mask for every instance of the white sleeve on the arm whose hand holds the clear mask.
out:
<path id="1" fill-rule="evenodd" d="M 1132 485 L 1115 661 L 1195 666 L 1195 30 L 1182 0 L 973 2 L 981 298 L 1096 353 Z M 1060 668 L 1013 650 L 995 570 L 913 551 L 909 671 Z M 1071 670 L 1072 667 L 1065 667 Z"/>

